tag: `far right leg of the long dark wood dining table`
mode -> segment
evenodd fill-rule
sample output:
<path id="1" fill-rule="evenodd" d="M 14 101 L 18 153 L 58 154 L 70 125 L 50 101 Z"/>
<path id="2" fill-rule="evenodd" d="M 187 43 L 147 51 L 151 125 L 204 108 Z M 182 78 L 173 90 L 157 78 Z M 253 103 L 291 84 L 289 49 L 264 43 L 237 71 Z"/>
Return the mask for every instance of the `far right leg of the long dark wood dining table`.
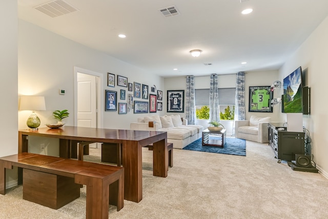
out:
<path id="1" fill-rule="evenodd" d="M 167 139 L 155 142 L 153 146 L 153 175 L 167 177 L 169 169 Z"/>

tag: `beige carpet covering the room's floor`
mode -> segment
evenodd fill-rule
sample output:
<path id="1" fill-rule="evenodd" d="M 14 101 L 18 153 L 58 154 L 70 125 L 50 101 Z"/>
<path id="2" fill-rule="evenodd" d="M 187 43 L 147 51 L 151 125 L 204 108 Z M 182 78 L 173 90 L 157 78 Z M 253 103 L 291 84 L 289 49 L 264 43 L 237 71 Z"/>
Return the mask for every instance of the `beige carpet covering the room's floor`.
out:
<path id="1" fill-rule="evenodd" d="M 124 201 L 110 218 L 327 218 L 328 180 L 278 164 L 267 144 L 247 141 L 247 156 L 174 149 L 168 177 L 152 175 L 152 151 L 142 151 L 143 198 Z M 91 149 L 85 160 L 99 160 Z M 0 195 L 0 218 L 85 218 L 81 197 L 53 210 L 23 200 L 22 186 Z"/>

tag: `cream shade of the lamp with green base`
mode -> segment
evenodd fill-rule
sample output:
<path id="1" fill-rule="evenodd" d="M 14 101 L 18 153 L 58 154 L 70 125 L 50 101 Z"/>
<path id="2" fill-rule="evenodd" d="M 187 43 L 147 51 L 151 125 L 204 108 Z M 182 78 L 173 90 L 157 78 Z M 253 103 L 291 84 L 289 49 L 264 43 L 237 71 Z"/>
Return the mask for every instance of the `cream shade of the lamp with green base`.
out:
<path id="1" fill-rule="evenodd" d="M 44 96 L 21 96 L 19 110 L 46 110 Z"/>

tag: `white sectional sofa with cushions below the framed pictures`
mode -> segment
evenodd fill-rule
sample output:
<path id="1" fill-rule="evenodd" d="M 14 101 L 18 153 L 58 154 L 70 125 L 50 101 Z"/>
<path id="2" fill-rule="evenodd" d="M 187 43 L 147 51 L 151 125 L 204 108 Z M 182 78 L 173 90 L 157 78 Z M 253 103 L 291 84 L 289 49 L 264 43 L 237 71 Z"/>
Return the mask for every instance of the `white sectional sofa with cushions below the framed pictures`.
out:
<path id="1" fill-rule="evenodd" d="M 136 123 L 130 124 L 131 130 L 166 131 L 168 142 L 173 148 L 182 149 L 201 137 L 202 126 L 188 125 L 185 118 L 177 115 L 153 115 L 139 117 Z"/>

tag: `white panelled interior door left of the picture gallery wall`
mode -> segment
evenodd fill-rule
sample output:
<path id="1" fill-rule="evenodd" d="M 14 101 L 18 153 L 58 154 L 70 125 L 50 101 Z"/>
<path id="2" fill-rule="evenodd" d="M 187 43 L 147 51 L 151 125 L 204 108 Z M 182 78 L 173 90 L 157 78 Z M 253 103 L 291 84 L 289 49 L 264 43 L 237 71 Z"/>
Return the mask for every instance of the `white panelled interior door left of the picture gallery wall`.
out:
<path id="1" fill-rule="evenodd" d="M 77 73 L 77 126 L 97 128 L 97 77 Z M 97 148 L 97 143 L 89 147 Z"/>

